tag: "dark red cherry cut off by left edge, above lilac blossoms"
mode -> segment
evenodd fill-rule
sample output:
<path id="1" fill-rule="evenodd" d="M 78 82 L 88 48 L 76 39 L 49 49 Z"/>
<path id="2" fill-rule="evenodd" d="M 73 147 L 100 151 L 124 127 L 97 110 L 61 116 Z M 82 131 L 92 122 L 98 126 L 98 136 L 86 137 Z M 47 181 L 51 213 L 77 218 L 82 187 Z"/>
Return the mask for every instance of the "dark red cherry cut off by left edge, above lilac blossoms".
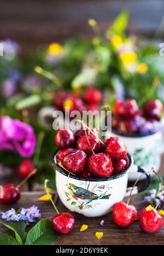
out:
<path id="1" fill-rule="evenodd" d="M 2 187 L 2 196 L 3 198 L 0 198 L 2 204 L 13 204 L 19 200 L 21 194 L 20 190 L 13 184 L 5 184 Z"/>

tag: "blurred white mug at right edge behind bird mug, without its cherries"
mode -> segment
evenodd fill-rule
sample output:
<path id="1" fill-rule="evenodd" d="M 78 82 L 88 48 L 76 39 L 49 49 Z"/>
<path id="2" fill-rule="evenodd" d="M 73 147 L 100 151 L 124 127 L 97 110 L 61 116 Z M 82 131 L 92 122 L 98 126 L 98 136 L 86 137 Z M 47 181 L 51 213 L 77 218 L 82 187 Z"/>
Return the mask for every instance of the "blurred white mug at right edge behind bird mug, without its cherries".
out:
<path id="1" fill-rule="evenodd" d="M 131 153 L 134 159 L 134 164 L 144 167 L 147 170 L 151 170 L 152 167 L 159 171 L 161 164 L 162 149 L 162 132 L 156 132 L 150 135 L 122 135 L 113 131 L 106 135 L 106 138 L 110 136 L 119 136 L 127 146 L 128 152 Z M 153 173 L 152 173 L 153 174 Z M 152 175 L 151 174 L 151 175 Z M 128 174 L 128 180 L 134 181 L 139 177 L 139 174 L 133 172 Z M 142 179 L 144 179 L 143 177 Z"/>

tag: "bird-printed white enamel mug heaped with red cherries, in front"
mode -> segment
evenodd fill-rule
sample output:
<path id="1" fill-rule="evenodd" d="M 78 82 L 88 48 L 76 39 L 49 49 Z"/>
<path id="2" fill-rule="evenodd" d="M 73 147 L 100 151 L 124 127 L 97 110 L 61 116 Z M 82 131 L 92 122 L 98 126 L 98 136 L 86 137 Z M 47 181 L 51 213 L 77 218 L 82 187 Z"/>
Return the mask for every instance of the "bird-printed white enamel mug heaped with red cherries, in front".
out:
<path id="1" fill-rule="evenodd" d="M 73 133 L 60 129 L 55 143 L 58 150 L 52 157 L 56 169 L 56 189 L 62 203 L 72 212 L 86 217 L 98 217 L 112 211 L 122 201 L 127 189 L 128 173 L 133 158 L 118 136 L 101 140 L 95 128 L 80 129 Z M 150 175 L 141 167 L 136 172 L 146 175 L 142 186 L 133 194 L 147 189 Z"/>

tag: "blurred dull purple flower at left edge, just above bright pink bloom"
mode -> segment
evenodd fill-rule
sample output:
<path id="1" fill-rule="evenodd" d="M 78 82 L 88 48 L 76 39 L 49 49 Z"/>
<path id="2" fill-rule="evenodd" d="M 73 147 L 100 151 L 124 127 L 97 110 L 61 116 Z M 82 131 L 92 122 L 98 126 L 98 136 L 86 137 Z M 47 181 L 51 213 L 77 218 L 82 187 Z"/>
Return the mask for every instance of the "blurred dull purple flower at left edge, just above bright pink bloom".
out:
<path id="1" fill-rule="evenodd" d="M 11 79 L 5 79 L 4 82 L 1 84 L 2 87 L 2 96 L 5 99 L 10 98 L 16 93 L 17 90 L 17 83 Z"/>

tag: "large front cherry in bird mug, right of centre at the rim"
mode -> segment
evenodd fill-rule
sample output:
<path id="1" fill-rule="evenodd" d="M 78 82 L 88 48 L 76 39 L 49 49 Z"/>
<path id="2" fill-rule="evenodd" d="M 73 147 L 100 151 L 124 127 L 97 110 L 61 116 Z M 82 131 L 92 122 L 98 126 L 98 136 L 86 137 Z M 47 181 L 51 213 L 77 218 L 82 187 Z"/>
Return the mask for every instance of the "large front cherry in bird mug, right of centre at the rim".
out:
<path id="1" fill-rule="evenodd" d="M 97 177 L 109 177 L 113 172 L 112 160 L 105 153 L 90 156 L 87 166 Z"/>

